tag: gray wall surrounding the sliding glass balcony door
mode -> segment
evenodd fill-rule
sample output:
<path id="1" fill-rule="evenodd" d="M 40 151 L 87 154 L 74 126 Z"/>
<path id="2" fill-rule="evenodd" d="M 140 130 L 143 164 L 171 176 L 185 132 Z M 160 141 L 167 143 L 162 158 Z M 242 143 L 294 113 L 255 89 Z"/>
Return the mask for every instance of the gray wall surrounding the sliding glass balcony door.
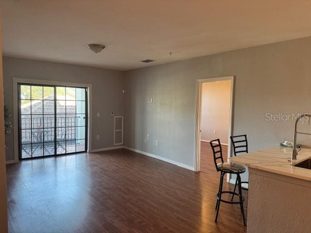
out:
<path id="1" fill-rule="evenodd" d="M 92 84 L 92 150 L 113 146 L 115 115 L 123 115 L 123 74 L 101 68 L 3 57 L 4 103 L 13 114 L 12 77 Z M 101 116 L 97 117 L 96 114 Z M 13 121 L 13 117 L 12 117 Z M 99 127 L 100 126 L 100 127 Z M 6 136 L 6 160 L 14 160 L 13 130 Z M 96 140 L 100 135 L 100 140 Z"/>

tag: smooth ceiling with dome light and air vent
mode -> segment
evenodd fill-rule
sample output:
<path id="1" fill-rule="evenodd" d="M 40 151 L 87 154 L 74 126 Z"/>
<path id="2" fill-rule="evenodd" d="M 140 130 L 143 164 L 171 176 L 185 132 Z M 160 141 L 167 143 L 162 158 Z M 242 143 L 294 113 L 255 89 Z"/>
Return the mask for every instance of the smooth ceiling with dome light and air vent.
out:
<path id="1" fill-rule="evenodd" d="M 128 70 L 310 36 L 310 12 L 311 0 L 2 0 L 3 55 Z"/>

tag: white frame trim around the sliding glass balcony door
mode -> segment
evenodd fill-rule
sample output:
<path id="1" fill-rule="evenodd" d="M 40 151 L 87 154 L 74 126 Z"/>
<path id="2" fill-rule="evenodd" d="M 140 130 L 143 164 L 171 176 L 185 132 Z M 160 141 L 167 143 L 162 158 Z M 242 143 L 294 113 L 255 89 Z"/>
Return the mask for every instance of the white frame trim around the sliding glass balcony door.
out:
<path id="1" fill-rule="evenodd" d="M 87 88 L 87 151 L 92 151 L 92 84 L 90 83 L 66 83 L 51 80 L 21 79 L 13 77 L 13 122 L 14 122 L 14 163 L 18 163 L 18 83 L 61 85 Z"/>

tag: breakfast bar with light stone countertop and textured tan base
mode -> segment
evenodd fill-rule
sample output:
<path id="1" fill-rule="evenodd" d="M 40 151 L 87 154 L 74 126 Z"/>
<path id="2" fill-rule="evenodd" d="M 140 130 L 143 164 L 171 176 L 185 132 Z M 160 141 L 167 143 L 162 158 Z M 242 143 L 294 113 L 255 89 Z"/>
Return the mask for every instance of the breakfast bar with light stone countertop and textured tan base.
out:
<path id="1" fill-rule="evenodd" d="M 311 149 L 297 150 L 296 160 L 292 150 L 275 147 L 230 158 L 249 171 L 247 233 L 311 232 Z"/>

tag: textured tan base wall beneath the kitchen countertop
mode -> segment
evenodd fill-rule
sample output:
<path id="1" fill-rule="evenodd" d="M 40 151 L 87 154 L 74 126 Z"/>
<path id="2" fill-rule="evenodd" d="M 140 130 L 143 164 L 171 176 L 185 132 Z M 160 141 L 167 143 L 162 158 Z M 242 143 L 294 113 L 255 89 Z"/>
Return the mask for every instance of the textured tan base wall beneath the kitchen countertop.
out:
<path id="1" fill-rule="evenodd" d="M 295 178 L 287 183 L 265 173 L 249 173 L 247 233 L 311 232 L 311 182 L 306 187 L 295 184 Z"/>

